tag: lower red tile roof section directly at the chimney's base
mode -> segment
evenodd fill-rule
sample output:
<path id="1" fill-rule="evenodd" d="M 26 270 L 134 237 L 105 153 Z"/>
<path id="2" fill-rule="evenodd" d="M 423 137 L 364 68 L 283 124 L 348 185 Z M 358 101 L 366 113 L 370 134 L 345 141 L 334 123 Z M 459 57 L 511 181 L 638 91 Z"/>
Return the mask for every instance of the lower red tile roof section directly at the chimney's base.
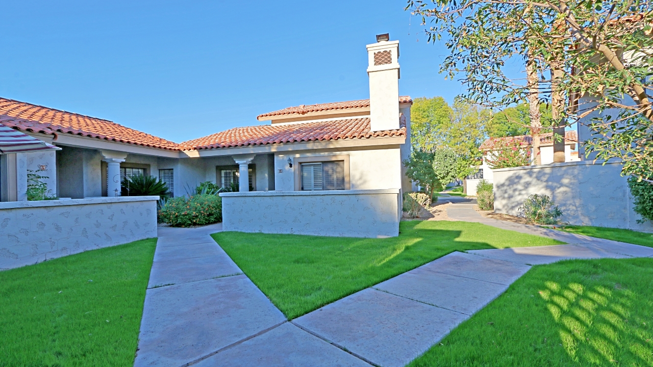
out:
<path id="1" fill-rule="evenodd" d="M 370 131 L 369 118 L 236 127 L 214 135 L 183 142 L 182 150 L 235 148 L 293 142 L 362 139 L 378 136 L 406 136 L 406 127 L 397 130 Z"/>

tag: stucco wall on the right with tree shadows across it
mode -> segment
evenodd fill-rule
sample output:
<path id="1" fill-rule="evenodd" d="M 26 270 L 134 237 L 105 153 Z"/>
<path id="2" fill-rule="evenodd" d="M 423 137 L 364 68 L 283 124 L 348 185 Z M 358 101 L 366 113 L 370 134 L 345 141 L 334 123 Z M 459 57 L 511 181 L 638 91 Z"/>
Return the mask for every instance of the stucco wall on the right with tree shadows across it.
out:
<path id="1" fill-rule="evenodd" d="M 494 211 L 518 215 L 528 195 L 549 195 L 562 209 L 562 221 L 636 231 L 653 231 L 650 222 L 633 211 L 628 178 L 622 177 L 620 161 L 552 163 L 502 168 L 494 172 Z"/>

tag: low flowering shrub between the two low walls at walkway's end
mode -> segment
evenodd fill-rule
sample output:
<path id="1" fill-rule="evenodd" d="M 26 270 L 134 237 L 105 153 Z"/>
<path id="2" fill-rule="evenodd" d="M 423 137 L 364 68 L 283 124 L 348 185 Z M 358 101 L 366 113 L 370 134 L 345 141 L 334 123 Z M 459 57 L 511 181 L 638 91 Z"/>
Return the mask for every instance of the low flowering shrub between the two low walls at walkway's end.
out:
<path id="1" fill-rule="evenodd" d="M 222 221 L 222 198 L 218 195 L 193 195 L 166 200 L 159 219 L 172 227 L 192 227 Z"/>

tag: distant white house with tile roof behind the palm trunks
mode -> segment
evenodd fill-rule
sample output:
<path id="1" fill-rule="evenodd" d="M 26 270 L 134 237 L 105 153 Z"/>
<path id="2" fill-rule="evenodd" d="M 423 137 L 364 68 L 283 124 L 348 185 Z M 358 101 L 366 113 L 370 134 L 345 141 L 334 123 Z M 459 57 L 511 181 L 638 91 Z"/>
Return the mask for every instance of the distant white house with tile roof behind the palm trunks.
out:
<path id="1" fill-rule="evenodd" d="M 548 165 L 553 163 L 553 133 L 545 133 L 539 135 L 540 138 L 540 157 L 541 164 Z M 487 157 L 490 152 L 496 152 L 496 146 L 501 144 L 503 140 L 507 139 L 519 139 L 522 142 L 526 143 L 528 149 L 531 152 L 531 157 L 534 156 L 533 150 L 533 136 L 532 135 L 520 135 L 520 136 L 509 136 L 506 138 L 492 138 L 487 139 L 479 149 L 483 151 L 483 164 L 479 166 L 478 172 L 468 176 L 465 179 L 465 193 L 467 195 L 476 195 L 476 186 L 479 181 L 486 180 L 489 183 L 494 182 L 494 174 L 492 174 L 492 168 L 488 165 Z M 578 134 L 576 131 L 565 131 L 565 162 L 575 162 L 580 161 L 578 154 Z"/>

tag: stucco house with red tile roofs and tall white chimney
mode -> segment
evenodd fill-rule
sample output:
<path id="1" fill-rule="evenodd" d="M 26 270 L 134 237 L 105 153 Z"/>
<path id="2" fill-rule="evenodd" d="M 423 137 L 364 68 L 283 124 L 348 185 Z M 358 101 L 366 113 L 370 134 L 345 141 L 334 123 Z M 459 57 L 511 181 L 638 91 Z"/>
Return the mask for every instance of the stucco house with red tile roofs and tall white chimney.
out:
<path id="1" fill-rule="evenodd" d="M 390 189 L 400 215 L 401 193 L 411 187 L 402 160 L 410 153 L 412 101 L 399 95 L 399 42 L 380 35 L 366 48 L 370 99 L 284 108 L 257 116 L 264 125 L 181 143 L 101 118 L 0 98 L 1 124 L 61 148 L 2 155 L 2 200 L 26 200 L 23 171 L 40 169 L 61 198 L 113 197 L 120 195 L 121 178 L 145 174 L 161 178 L 174 196 L 206 181 L 220 186 L 237 181 L 243 192 L 342 195 Z M 10 187 L 18 189 L 9 193 Z"/>

